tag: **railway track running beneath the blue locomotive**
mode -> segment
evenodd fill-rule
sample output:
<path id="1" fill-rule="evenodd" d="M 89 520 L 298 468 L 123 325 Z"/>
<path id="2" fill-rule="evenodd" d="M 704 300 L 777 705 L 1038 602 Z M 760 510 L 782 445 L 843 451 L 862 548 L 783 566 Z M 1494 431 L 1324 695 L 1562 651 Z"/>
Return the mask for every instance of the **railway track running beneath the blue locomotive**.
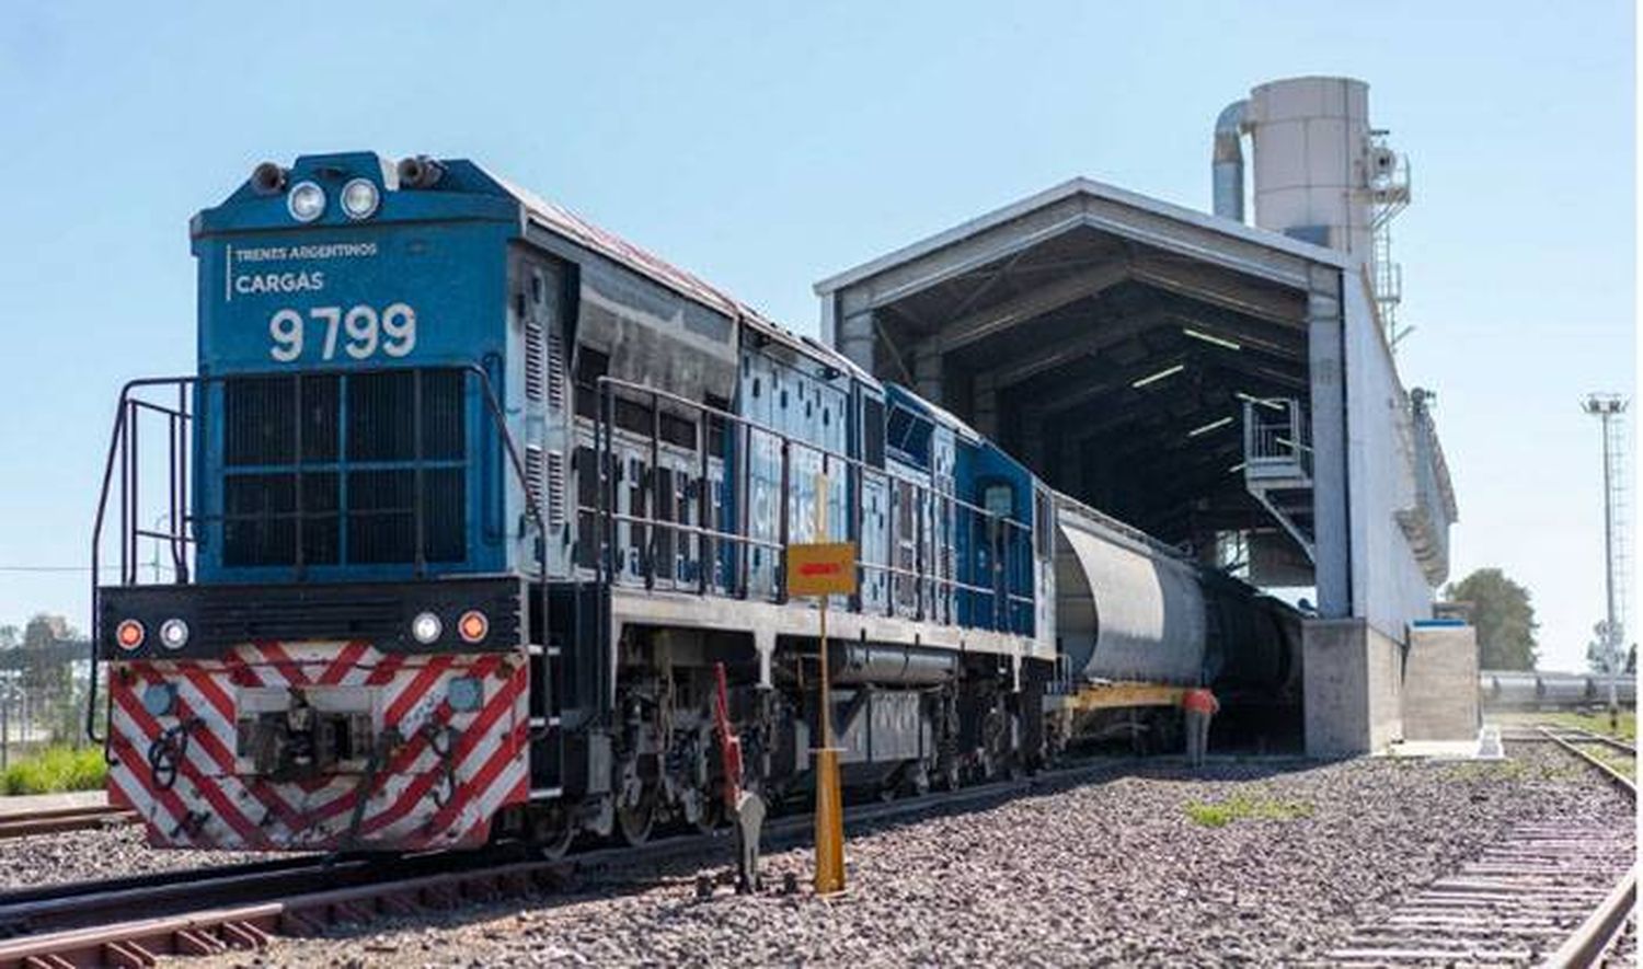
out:
<path id="1" fill-rule="evenodd" d="M 856 805 L 846 810 L 846 823 L 859 829 L 925 813 L 979 810 L 1033 790 L 1116 774 L 1125 764 L 1083 764 L 960 792 Z M 775 818 L 764 828 L 764 846 L 790 847 L 807 841 L 810 831 L 808 815 Z M 557 890 L 585 879 L 631 880 L 613 874 L 616 869 L 654 874 L 687 856 L 713 852 L 728 859 L 728 833 L 718 831 L 679 834 L 642 847 L 595 847 L 564 859 L 542 859 L 524 846 L 467 854 L 306 856 L 0 893 L 0 969 L 151 966 L 159 956 L 263 948 L 274 935 L 315 935 L 335 921 L 417 915 Z M 210 903 L 202 905 L 200 898 Z"/>

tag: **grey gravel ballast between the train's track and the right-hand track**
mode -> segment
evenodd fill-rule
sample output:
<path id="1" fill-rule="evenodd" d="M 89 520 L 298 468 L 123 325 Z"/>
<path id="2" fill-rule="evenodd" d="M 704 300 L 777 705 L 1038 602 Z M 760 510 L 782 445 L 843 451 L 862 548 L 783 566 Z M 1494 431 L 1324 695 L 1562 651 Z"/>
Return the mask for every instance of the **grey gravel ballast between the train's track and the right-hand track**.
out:
<path id="1" fill-rule="evenodd" d="M 1213 762 L 1198 775 L 1147 764 L 853 833 L 849 890 L 836 900 L 807 887 L 698 900 L 688 866 L 660 882 L 610 869 L 559 895 L 186 964 L 1309 962 L 1515 823 L 1631 824 L 1630 801 L 1566 754 L 1513 754 L 1466 765 Z M 764 872 L 769 885 L 787 872 L 807 885 L 810 852 L 767 856 Z"/>

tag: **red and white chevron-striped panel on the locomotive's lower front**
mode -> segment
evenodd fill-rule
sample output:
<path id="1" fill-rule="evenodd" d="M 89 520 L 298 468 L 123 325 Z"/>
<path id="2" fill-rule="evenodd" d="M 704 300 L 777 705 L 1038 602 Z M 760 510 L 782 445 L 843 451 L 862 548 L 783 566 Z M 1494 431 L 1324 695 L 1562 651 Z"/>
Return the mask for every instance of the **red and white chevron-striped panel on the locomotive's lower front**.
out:
<path id="1" fill-rule="evenodd" d="M 450 682 L 483 683 L 478 710 L 455 713 Z M 524 652 L 383 654 L 368 642 L 255 642 L 222 660 L 113 664 L 108 742 L 115 765 L 108 800 L 138 811 L 163 847 L 330 851 L 473 847 L 506 805 L 529 797 L 529 670 Z M 164 716 L 143 708 L 153 683 L 174 683 Z M 363 688 L 373 732 L 403 742 L 368 790 L 363 774 L 274 783 L 235 765 L 238 696 L 251 688 Z M 192 721 L 176 782 L 161 787 L 148 752 L 161 734 Z M 437 731 L 426 731 L 437 728 Z M 444 729 L 450 728 L 450 729 Z M 444 754 L 429 734 L 437 732 Z M 352 833 L 355 805 L 365 813 Z"/>

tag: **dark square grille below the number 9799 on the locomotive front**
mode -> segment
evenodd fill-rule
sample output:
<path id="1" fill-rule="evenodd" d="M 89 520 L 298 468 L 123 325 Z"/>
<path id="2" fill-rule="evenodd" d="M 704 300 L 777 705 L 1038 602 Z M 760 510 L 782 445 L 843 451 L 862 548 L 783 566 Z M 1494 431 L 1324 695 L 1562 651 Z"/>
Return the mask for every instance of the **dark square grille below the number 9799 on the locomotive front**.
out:
<path id="1" fill-rule="evenodd" d="M 449 368 L 223 381 L 222 563 L 407 563 L 419 530 L 422 562 L 462 562 L 463 383 Z"/>

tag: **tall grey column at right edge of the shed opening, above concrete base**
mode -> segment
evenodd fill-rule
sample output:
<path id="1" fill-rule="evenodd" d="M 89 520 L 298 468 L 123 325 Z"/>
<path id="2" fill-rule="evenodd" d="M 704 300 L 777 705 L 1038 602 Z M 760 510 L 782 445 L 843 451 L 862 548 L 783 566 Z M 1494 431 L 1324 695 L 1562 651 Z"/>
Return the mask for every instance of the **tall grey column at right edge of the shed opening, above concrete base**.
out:
<path id="1" fill-rule="evenodd" d="M 1352 519 L 1347 476 L 1346 333 L 1341 271 L 1313 269 L 1306 301 L 1313 414 L 1313 544 L 1318 614 L 1352 614 Z"/>

